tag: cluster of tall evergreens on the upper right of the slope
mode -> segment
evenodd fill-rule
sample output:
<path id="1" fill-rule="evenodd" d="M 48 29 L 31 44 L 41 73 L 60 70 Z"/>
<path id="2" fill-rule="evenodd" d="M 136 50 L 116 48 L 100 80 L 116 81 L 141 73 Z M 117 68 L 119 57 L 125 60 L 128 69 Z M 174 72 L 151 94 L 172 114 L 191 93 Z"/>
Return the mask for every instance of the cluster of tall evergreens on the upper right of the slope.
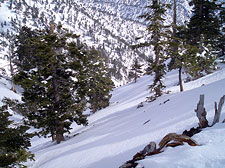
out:
<path id="1" fill-rule="evenodd" d="M 134 46 L 153 47 L 147 74 L 154 74 L 150 85 L 150 101 L 163 94 L 162 78 L 167 70 L 178 69 L 180 91 L 183 91 L 182 72 L 193 79 L 202 77 L 215 69 L 215 60 L 224 55 L 224 7 L 217 1 L 192 0 L 193 15 L 185 25 L 177 25 L 177 1 L 165 4 L 152 0 L 146 7 L 149 12 L 140 16 L 148 24 L 149 41 Z M 173 6 L 173 22 L 165 24 L 166 10 Z M 169 63 L 166 64 L 166 61 Z"/>

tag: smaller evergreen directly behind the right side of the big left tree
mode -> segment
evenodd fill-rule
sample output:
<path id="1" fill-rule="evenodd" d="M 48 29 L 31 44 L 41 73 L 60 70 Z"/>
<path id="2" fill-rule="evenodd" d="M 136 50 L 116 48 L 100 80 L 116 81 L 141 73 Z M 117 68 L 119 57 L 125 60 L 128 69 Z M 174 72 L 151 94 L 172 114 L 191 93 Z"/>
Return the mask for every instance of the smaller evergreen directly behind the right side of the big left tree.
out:
<path id="1" fill-rule="evenodd" d="M 88 53 L 88 102 L 92 112 L 96 112 L 109 105 L 110 91 L 114 86 L 109 77 L 109 70 L 105 65 L 101 53 L 91 49 Z"/>

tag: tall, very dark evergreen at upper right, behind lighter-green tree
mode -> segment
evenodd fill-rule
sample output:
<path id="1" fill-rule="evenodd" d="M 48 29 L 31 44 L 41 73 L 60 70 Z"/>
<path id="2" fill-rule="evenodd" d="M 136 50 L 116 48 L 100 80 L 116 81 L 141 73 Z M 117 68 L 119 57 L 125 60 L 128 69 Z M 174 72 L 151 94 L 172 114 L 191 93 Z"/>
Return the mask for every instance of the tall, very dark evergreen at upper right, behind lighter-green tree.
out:
<path id="1" fill-rule="evenodd" d="M 203 73 L 214 68 L 220 24 L 216 15 L 219 5 L 210 0 L 192 0 L 193 16 L 188 23 L 188 41 L 198 47 L 198 62 Z M 202 73 L 201 73 L 202 74 Z"/>

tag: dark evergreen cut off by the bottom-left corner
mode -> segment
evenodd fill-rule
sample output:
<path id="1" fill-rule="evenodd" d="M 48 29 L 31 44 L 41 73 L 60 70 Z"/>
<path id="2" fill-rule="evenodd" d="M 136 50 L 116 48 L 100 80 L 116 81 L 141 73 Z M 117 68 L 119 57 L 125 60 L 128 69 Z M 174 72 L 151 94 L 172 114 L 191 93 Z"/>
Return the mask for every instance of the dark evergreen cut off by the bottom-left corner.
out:
<path id="1" fill-rule="evenodd" d="M 34 160 L 34 155 L 27 151 L 32 135 L 27 133 L 29 127 L 14 125 L 8 108 L 0 107 L 0 167 L 26 167 L 22 162 Z"/>

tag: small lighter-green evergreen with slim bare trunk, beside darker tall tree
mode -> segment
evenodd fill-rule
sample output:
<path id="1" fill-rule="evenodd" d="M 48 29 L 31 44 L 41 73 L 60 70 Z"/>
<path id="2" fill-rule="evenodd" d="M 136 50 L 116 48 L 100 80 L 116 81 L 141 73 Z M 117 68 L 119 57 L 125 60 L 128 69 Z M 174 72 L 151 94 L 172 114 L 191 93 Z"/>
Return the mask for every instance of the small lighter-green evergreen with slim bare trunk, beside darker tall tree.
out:
<path id="1" fill-rule="evenodd" d="M 187 42 L 187 29 L 184 26 L 178 26 L 176 29 L 176 34 L 171 36 L 169 43 L 168 56 L 170 62 L 168 69 L 178 69 L 180 91 L 183 91 L 182 70 L 194 78 L 201 76 L 202 67 L 199 65 L 201 58 L 197 54 L 198 47 Z"/>

